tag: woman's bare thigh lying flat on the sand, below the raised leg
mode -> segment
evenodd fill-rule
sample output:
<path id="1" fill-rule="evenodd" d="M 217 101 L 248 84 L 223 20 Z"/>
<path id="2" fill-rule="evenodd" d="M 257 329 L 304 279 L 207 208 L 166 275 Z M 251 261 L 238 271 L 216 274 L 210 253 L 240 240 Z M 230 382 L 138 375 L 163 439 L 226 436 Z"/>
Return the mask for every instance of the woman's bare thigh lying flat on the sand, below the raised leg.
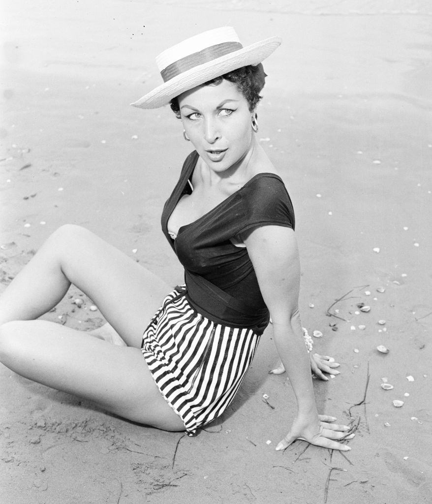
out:
<path id="1" fill-rule="evenodd" d="M 88 399 L 139 423 L 183 430 L 138 348 L 119 347 L 46 321 L 0 328 L 0 360 L 35 382 Z"/>

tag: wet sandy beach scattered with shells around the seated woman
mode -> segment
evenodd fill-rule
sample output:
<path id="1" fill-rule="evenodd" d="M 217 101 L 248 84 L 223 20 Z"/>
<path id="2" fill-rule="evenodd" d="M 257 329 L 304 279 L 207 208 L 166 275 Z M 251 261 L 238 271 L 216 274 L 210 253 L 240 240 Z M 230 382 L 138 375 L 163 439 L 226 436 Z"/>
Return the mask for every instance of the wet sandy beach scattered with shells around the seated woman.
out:
<path id="1" fill-rule="evenodd" d="M 334 380 L 314 381 L 320 412 L 357 425 L 347 455 L 301 441 L 275 451 L 295 398 L 286 374 L 269 374 L 271 327 L 232 405 L 196 437 L 0 365 L 0 502 L 430 502 L 429 3 L 4 0 L 0 10 L 0 292 L 65 223 L 181 283 L 159 220 L 191 147 L 169 107 L 129 104 L 160 83 L 154 57 L 188 34 L 229 25 L 245 44 L 282 37 L 264 65 L 258 136 L 295 209 L 302 324 L 323 333 L 314 351 L 341 363 Z M 71 288 L 44 318 L 91 330 L 104 322 L 92 304 Z"/>

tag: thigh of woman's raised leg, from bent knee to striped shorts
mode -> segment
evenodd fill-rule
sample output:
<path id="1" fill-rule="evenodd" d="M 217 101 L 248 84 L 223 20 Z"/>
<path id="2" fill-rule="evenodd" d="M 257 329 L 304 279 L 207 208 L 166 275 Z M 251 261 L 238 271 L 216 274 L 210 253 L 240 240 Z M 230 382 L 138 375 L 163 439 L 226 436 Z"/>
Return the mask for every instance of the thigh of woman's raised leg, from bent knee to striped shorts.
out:
<path id="1" fill-rule="evenodd" d="M 60 244 L 67 278 L 95 302 L 129 346 L 140 347 L 145 328 L 172 287 L 85 228 L 63 226 L 52 238 Z"/>

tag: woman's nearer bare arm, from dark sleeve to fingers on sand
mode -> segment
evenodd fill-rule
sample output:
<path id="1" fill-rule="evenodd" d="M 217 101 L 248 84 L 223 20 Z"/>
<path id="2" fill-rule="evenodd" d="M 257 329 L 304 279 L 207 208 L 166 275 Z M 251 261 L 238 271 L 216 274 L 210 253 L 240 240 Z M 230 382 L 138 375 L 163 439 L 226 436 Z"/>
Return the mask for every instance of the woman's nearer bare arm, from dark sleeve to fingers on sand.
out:
<path id="1" fill-rule="evenodd" d="M 349 428 L 329 424 L 335 418 L 319 417 L 317 412 L 311 365 L 298 312 L 300 262 L 293 230 L 282 226 L 263 226 L 244 233 L 242 239 L 270 310 L 276 348 L 297 400 L 297 415 L 276 450 L 286 448 L 298 438 L 325 448 L 349 450 L 337 441 L 346 435 Z"/>

